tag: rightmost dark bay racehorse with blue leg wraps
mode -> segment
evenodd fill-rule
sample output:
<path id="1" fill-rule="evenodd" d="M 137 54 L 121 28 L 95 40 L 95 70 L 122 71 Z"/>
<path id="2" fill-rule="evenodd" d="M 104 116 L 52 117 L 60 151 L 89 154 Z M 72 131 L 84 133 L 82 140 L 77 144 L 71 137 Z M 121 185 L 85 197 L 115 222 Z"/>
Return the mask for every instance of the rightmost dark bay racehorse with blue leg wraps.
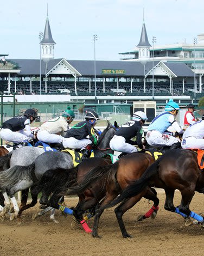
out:
<path id="1" fill-rule="evenodd" d="M 166 194 L 165 210 L 176 212 L 184 218 L 192 217 L 195 219 L 192 223 L 200 223 L 204 227 L 203 216 L 195 214 L 189 209 L 195 191 L 204 193 L 204 172 L 199 168 L 197 155 L 194 151 L 183 149 L 167 151 L 146 169 L 140 179 L 126 187 L 117 199 L 104 208 L 120 202 L 124 204 L 127 200 L 145 191 L 149 186 L 164 188 Z M 176 189 L 180 190 L 182 196 L 181 204 L 177 207 L 173 203 Z"/>

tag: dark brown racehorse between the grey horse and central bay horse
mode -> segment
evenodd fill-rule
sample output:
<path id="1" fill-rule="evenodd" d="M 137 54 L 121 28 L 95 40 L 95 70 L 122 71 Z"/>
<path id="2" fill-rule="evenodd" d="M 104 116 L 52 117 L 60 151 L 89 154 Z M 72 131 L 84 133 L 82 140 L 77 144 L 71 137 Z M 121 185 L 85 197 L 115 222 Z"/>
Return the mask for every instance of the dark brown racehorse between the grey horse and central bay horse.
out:
<path id="1" fill-rule="evenodd" d="M 66 212 L 68 210 L 66 207 L 59 208 L 59 200 L 61 197 L 59 196 L 59 193 L 62 192 L 63 187 L 73 186 L 75 182 L 77 184 L 80 184 L 85 174 L 89 172 L 92 168 L 96 166 L 105 166 L 111 163 L 112 161 L 110 158 L 91 157 L 86 161 L 82 161 L 80 164 L 78 164 L 78 166 L 73 169 L 67 170 L 58 168 L 53 170 L 47 170 L 47 172 L 43 174 L 40 184 L 36 185 L 32 191 L 33 198 L 35 198 L 35 203 L 37 203 L 37 194 L 39 194 L 39 192 L 42 192 L 44 193 L 44 196 L 40 199 L 41 204 L 47 205 L 49 208 L 51 206 L 52 208 L 60 209 Z M 79 203 L 78 205 L 76 205 L 75 208 L 72 208 L 73 215 L 76 218 L 76 221 L 82 224 L 82 227 L 87 233 L 90 233 L 92 230 L 85 223 L 83 214 L 86 210 L 88 210 L 89 214 L 87 216 L 89 217 L 86 217 L 86 220 L 94 216 L 95 205 L 104 198 L 105 193 L 105 188 L 101 188 L 101 182 L 95 182 L 93 187 L 78 195 Z M 52 194 L 52 196 L 49 198 L 50 194 Z M 42 215 L 43 212 L 47 212 L 47 210 L 45 209 L 41 211 L 40 214 L 34 215 L 33 218 Z M 55 219 L 53 219 L 53 221 L 56 222 Z"/>

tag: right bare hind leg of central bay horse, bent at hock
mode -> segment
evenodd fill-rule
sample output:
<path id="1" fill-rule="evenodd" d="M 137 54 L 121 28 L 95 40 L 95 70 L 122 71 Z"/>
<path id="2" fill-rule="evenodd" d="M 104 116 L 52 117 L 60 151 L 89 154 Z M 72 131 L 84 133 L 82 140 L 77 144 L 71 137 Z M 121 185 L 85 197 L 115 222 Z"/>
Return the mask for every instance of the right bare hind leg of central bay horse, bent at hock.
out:
<path id="1" fill-rule="evenodd" d="M 125 224 L 124 224 L 123 218 L 122 218 L 123 214 L 127 210 L 132 208 L 133 205 L 135 205 L 137 202 L 139 202 L 139 200 L 141 200 L 141 198 L 144 196 L 145 193 L 146 193 L 146 191 L 142 191 L 141 193 L 137 194 L 137 196 L 131 197 L 128 200 L 125 200 L 119 206 L 117 206 L 117 208 L 114 210 L 115 214 L 116 214 L 116 217 L 117 217 L 117 220 L 118 220 L 120 230 L 121 230 L 122 235 L 123 235 L 124 238 L 132 237 L 132 236 L 129 235 L 126 231 Z"/>

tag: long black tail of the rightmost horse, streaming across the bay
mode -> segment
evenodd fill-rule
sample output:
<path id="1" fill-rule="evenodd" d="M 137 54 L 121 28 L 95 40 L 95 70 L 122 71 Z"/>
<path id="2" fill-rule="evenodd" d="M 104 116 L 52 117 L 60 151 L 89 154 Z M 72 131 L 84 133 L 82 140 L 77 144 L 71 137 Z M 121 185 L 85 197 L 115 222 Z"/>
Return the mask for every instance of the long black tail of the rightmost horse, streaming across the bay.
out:
<path id="1" fill-rule="evenodd" d="M 148 181 L 150 180 L 150 178 L 153 175 L 155 175 L 155 173 L 157 173 L 159 164 L 160 164 L 160 159 L 152 163 L 151 166 L 149 166 L 145 170 L 141 178 L 133 181 L 133 183 L 127 186 L 116 199 L 114 199 L 110 204 L 104 205 L 102 208 L 103 209 L 111 208 L 119 204 L 120 202 L 123 202 L 124 200 L 134 197 L 140 192 L 142 192 L 146 187 L 148 187 Z"/>

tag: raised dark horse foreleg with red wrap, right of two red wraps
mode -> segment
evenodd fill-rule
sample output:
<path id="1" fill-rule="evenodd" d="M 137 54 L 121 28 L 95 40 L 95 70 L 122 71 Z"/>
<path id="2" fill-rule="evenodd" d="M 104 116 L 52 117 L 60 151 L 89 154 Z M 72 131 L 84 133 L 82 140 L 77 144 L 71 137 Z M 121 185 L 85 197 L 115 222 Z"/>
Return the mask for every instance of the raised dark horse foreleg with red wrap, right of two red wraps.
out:
<path id="1" fill-rule="evenodd" d="M 157 195 L 157 192 L 154 188 L 148 189 L 148 192 L 144 195 L 144 198 L 153 201 L 154 204 L 152 205 L 150 210 L 148 212 L 146 212 L 146 214 L 139 215 L 137 217 L 137 221 L 143 221 L 143 220 L 145 220 L 145 218 L 149 218 L 149 217 L 151 217 L 152 220 L 155 219 L 155 217 L 157 215 L 157 211 L 158 211 L 158 204 L 160 203 L 160 200 L 158 199 L 158 197 L 156 195 Z"/>

